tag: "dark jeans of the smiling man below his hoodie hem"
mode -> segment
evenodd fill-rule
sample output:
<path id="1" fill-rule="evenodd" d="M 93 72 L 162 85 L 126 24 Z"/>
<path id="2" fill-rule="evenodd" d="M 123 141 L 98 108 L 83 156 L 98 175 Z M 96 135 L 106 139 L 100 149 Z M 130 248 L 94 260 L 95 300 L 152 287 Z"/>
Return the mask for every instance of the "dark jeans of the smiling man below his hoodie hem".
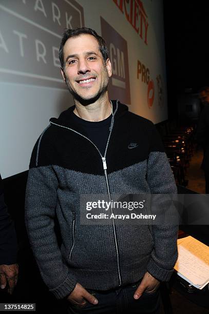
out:
<path id="1" fill-rule="evenodd" d="M 97 305 L 86 302 L 83 307 L 69 303 L 68 314 L 159 314 L 160 313 L 160 292 L 144 292 L 138 299 L 134 299 L 134 292 L 138 284 L 130 284 L 118 289 L 98 291 L 86 289 L 94 295 L 99 303 Z"/>

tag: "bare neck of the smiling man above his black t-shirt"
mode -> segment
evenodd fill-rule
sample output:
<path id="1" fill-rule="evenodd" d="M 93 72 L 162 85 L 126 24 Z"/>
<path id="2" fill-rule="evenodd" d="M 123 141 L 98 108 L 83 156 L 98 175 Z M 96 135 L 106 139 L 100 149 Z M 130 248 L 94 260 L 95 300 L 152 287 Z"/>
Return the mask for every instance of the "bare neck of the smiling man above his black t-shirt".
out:
<path id="1" fill-rule="evenodd" d="M 100 97 L 96 102 L 87 106 L 82 105 L 74 99 L 75 109 L 73 112 L 81 119 L 98 122 L 107 119 L 112 113 L 112 105 L 109 101 L 108 94 Z"/>

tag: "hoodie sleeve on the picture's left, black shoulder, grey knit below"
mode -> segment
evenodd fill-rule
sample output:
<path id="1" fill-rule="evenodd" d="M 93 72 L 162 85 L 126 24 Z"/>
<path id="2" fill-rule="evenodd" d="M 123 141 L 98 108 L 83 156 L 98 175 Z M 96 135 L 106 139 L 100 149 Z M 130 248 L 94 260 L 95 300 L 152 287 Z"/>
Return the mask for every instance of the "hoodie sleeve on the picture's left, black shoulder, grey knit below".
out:
<path id="1" fill-rule="evenodd" d="M 26 188 L 25 222 L 41 276 L 49 291 L 62 299 L 71 293 L 77 280 L 63 263 L 54 231 L 58 180 L 50 163 L 52 150 L 42 136 L 33 149 Z"/>

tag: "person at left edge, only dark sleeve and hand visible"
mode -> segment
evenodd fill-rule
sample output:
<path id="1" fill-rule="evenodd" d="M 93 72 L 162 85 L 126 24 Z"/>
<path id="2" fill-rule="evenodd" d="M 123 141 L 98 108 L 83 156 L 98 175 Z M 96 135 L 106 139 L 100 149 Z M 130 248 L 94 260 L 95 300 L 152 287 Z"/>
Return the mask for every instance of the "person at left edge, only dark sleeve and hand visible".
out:
<path id="1" fill-rule="evenodd" d="M 17 283 L 17 241 L 14 225 L 4 202 L 3 182 L 0 174 L 0 284 L 11 295 Z"/>

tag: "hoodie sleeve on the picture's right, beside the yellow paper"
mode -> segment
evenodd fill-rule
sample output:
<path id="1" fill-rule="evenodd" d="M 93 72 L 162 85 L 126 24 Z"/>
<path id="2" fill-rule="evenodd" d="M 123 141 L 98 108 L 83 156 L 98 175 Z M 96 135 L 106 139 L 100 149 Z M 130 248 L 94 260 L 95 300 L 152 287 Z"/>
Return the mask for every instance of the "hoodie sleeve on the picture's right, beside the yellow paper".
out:
<path id="1" fill-rule="evenodd" d="M 160 200 L 160 206 L 166 208 L 166 198 L 159 194 L 176 194 L 177 187 L 162 141 L 154 125 L 150 136 L 147 182 L 150 193 L 155 194 L 155 201 Z M 165 204 L 163 204 L 164 199 Z M 175 215 L 175 207 L 173 205 L 170 205 L 166 210 Z M 172 220 L 169 220 L 168 224 L 153 225 L 153 237 L 154 250 L 151 253 L 147 270 L 160 281 L 168 281 L 178 257 L 178 225 L 172 223 Z"/>

